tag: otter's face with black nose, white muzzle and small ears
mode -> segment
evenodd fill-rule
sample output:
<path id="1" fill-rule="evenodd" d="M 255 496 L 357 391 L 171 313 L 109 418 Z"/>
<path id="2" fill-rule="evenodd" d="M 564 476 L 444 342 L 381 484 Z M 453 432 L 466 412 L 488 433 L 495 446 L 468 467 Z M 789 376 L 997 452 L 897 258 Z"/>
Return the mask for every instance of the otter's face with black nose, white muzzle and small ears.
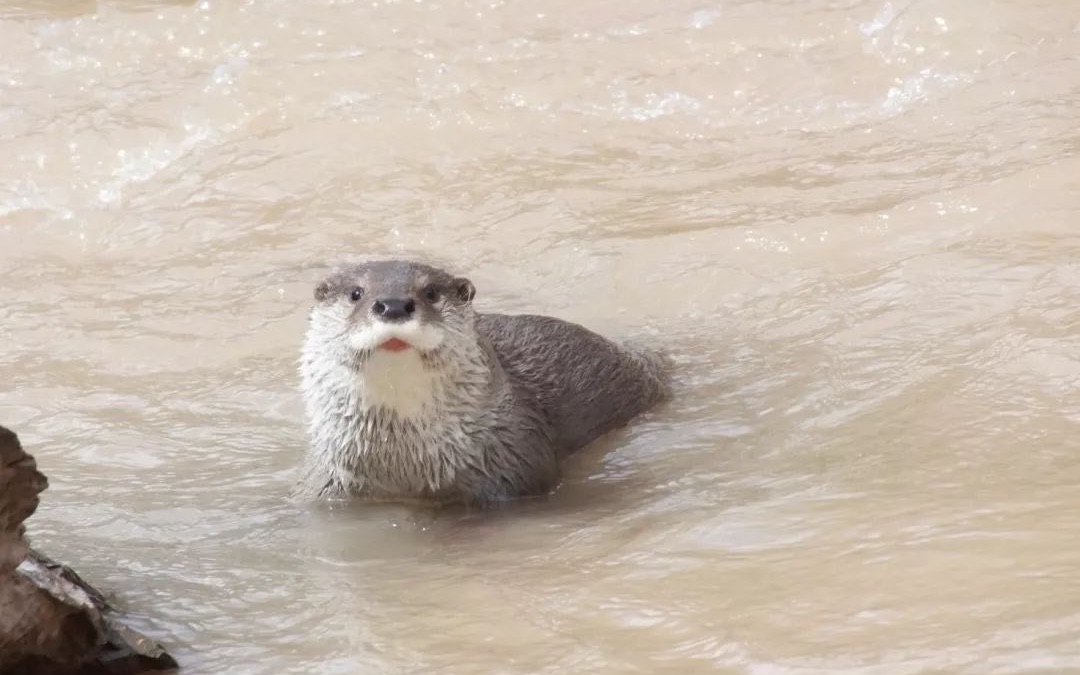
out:
<path id="1" fill-rule="evenodd" d="M 367 355 L 438 350 L 475 293 L 468 279 L 388 260 L 338 271 L 314 295 L 316 309 L 339 320 L 349 347 Z"/>

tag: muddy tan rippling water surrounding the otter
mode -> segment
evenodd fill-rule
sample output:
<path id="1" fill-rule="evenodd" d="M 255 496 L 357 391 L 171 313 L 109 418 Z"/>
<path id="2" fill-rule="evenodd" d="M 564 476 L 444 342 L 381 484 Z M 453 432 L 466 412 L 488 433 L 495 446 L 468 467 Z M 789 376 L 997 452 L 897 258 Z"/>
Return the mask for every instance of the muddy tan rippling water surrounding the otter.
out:
<path id="1" fill-rule="evenodd" d="M 0 415 L 187 673 L 1080 671 L 1068 2 L 5 2 Z M 663 340 L 489 516 L 286 501 L 313 280 Z"/>

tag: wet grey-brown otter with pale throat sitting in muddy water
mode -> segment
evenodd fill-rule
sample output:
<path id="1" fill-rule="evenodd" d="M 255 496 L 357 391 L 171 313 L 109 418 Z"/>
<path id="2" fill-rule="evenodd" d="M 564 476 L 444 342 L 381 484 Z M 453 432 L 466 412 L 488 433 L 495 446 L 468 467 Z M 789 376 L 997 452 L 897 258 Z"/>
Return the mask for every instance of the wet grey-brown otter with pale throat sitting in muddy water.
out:
<path id="1" fill-rule="evenodd" d="M 318 283 L 297 496 L 480 508 L 541 496 L 565 457 L 670 396 L 666 355 L 551 316 L 481 313 L 475 294 L 401 259 Z"/>

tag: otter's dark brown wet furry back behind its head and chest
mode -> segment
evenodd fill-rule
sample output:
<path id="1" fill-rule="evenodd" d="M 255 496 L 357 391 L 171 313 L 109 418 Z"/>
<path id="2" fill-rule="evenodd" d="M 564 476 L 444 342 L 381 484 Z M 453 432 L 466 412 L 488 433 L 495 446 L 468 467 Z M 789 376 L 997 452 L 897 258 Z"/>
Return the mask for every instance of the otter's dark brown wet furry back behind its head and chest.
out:
<path id="1" fill-rule="evenodd" d="M 544 408 L 564 451 L 626 424 L 667 395 L 659 355 L 632 351 L 567 321 L 478 314 L 503 370 Z"/>

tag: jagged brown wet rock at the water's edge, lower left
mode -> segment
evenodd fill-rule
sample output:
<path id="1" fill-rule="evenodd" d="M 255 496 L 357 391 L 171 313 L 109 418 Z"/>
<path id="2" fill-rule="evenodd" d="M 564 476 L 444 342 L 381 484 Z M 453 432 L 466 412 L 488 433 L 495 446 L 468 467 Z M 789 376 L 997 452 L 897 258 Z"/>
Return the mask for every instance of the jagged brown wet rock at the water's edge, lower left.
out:
<path id="1" fill-rule="evenodd" d="M 18 437 L 0 427 L 0 673 L 135 675 L 176 661 L 124 626 L 73 570 L 30 548 L 24 522 L 49 481 Z"/>

